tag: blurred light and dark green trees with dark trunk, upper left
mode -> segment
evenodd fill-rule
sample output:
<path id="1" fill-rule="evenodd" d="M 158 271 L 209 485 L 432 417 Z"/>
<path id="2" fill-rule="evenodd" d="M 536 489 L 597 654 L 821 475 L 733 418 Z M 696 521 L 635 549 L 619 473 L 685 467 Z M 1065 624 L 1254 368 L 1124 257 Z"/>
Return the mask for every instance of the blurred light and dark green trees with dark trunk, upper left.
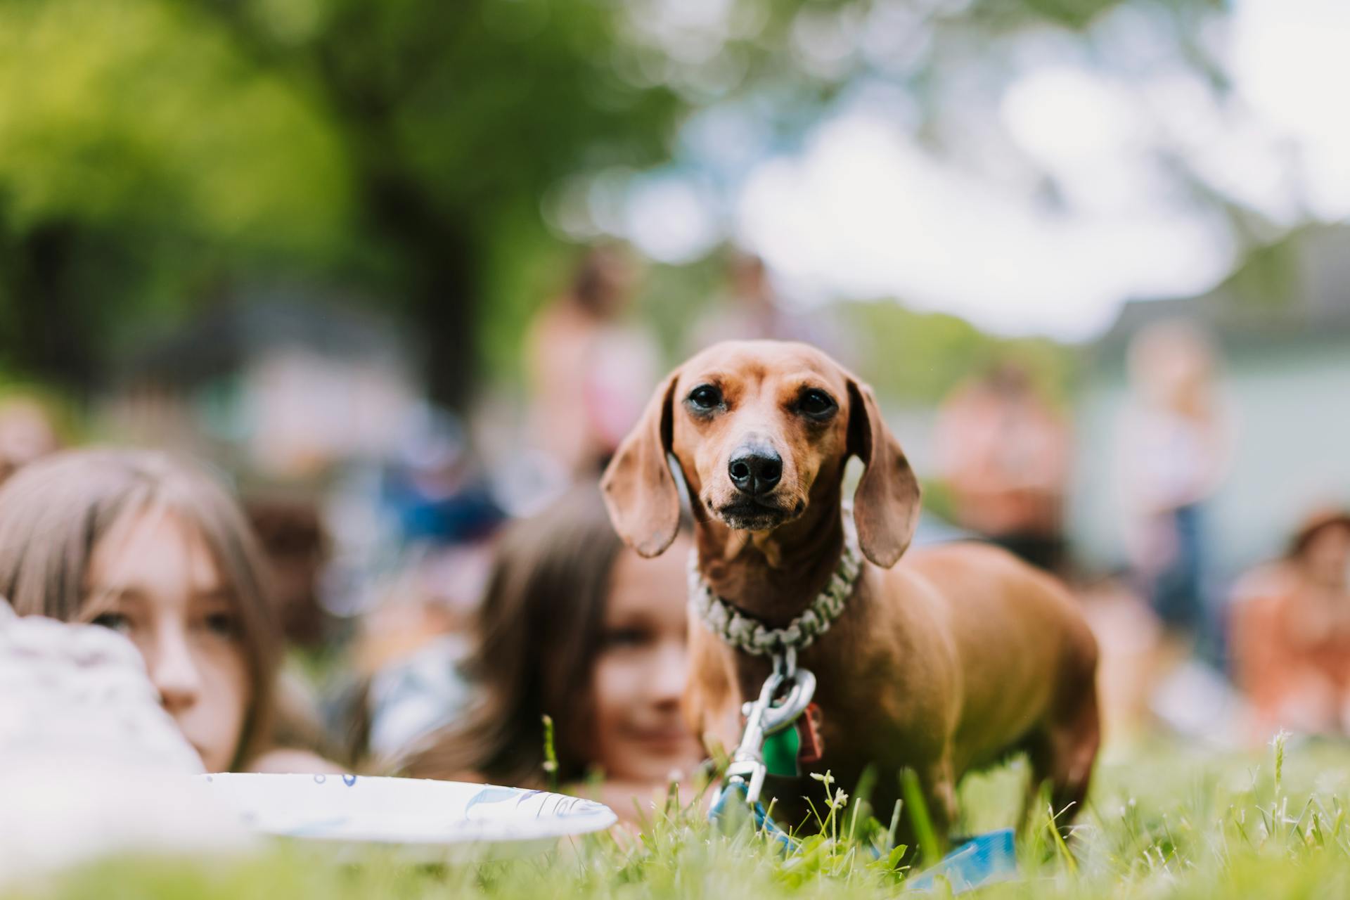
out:
<path id="1" fill-rule="evenodd" d="M 89 387 L 127 320 L 300 274 L 401 305 L 455 403 L 494 247 L 562 174 L 667 152 L 616 39 L 591 0 L 4 3 L 9 363 Z"/>

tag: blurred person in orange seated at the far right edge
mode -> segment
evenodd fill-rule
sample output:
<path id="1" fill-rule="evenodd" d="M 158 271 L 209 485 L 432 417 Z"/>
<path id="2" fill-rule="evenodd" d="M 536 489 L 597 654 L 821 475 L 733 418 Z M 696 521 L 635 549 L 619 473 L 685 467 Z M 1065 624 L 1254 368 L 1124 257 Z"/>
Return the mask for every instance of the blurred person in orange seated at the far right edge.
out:
<path id="1" fill-rule="evenodd" d="M 1311 515 L 1233 591 L 1233 667 L 1253 737 L 1350 734 L 1350 510 Z"/>

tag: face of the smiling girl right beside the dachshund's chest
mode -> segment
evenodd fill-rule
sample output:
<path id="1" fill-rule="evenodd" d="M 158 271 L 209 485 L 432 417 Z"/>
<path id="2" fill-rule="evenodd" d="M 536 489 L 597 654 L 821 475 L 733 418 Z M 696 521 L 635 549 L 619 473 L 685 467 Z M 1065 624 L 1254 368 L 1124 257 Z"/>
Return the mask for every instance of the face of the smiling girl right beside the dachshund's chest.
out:
<path id="1" fill-rule="evenodd" d="M 687 553 L 680 540 L 652 560 L 625 548 L 614 563 L 591 675 L 591 762 L 616 781 L 660 783 L 703 757 L 680 715 Z"/>

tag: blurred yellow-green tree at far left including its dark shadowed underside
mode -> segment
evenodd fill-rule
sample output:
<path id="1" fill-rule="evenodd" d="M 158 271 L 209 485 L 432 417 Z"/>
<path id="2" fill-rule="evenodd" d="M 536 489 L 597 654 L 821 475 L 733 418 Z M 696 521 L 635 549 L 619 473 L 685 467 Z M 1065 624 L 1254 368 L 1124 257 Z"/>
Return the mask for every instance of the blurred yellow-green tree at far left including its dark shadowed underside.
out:
<path id="1" fill-rule="evenodd" d="M 340 144 L 157 3 L 0 4 L 0 352 L 86 389 L 122 328 L 235 264 L 328 258 Z"/>

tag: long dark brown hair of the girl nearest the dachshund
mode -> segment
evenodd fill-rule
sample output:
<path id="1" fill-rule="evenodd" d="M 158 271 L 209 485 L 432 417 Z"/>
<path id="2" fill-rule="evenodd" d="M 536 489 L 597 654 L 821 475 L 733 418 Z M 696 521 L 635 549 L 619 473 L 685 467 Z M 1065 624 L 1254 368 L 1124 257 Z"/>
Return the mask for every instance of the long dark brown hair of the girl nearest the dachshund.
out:
<path id="1" fill-rule="evenodd" d="M 586 773 L 590 667 L 622 546 L 594 484 L 506 529 L 464 665 L 479 700 L 405 760 L 406 775 L 540 784 L 545 714 L 556 725 L 558 777 Z"/>

